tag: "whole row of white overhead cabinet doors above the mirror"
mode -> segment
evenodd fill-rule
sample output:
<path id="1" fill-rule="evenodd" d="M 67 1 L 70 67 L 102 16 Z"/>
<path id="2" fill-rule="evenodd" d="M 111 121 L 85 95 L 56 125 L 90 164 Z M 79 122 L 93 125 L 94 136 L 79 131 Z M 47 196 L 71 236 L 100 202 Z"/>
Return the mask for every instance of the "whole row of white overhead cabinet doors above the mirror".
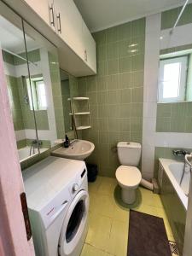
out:
<path id="1" fill-rule="evenodd" d="M 96 43 L 73 0 L 22 0 L 96 73 Z M 65 58 L 65 56 L 63 56 Z"/>

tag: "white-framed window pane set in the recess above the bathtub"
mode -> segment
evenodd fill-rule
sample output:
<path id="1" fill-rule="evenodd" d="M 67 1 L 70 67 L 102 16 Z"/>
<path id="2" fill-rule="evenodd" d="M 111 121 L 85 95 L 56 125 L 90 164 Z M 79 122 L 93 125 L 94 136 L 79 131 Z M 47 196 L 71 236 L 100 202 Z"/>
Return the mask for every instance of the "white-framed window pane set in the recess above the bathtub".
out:
<path id="1" fill-rule="evenodd" d="M 187 56 L 160 61 L 159 102 L 185 100 L 187 64 Z"/>

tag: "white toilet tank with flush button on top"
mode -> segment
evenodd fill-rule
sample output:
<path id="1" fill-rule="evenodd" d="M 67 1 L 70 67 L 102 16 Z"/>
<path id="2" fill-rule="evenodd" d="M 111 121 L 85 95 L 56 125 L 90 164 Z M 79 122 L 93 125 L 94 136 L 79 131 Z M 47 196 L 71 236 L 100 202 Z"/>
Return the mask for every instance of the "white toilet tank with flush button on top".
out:
<path id="1" fill-rule="evenodd" d="M 120 142 L 117 144 L 117 151 L 121 165 L 138 166 L 142 153 L 140 143 Z"/>

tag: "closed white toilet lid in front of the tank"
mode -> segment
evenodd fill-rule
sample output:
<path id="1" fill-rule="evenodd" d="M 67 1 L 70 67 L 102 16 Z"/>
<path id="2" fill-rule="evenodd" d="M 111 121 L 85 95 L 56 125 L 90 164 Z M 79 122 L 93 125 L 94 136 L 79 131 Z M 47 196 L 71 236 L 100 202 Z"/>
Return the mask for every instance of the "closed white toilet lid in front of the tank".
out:
<path id="1" fill-rule="evenodd" d="M 115 176 L 123 186 L 134 187 L 142 180 L 139 169 L 135 166 L 119 166 Z"/>

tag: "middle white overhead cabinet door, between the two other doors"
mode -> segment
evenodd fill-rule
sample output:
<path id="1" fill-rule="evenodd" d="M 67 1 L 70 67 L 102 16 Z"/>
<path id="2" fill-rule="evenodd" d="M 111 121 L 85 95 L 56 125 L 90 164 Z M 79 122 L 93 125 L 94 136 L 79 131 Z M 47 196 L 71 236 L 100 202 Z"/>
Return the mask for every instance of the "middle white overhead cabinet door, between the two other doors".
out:
<path id="1" fill-rule="evenodd" d="M 55 0 L 57 28 L 61 38 L 73 51 L 84 58 L 83 19 L 72 0 Z M 60 15 L 60 18 L 59 18 Z M 57 29 L 58 30 L 58 29 Z"/>

